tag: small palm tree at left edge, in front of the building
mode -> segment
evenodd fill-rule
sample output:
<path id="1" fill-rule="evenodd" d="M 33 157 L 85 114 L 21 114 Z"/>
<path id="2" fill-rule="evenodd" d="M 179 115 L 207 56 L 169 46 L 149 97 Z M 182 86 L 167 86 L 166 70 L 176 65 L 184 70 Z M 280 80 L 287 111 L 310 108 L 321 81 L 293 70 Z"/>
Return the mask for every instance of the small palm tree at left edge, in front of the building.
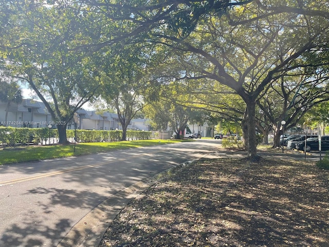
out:
<path id="1" fill-rule="evenodd" d="M 5 116 L 5 126 L 7 123 L 8 110 L 11 103 L 22 103 L 22 89 L 17 84 L 16 81 L 10 81 L 9 83 L 3 80 L 0 80 L 0 100 L 7 102 L 6 105 L 6 116 Z"/>

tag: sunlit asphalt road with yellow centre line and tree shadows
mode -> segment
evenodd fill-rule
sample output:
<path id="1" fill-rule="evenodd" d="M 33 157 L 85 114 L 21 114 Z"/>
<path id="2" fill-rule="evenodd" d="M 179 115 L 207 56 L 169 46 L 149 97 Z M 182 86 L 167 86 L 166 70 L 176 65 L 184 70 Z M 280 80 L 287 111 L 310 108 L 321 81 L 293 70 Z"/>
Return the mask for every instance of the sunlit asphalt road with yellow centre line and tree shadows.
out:
<path id="1" fill-rule="evenodd" d="M 198 139 L 0 166 L 0 246 L 57 246 L 107 198 L 163 170 L 210 154 L 220 143 Z"/>

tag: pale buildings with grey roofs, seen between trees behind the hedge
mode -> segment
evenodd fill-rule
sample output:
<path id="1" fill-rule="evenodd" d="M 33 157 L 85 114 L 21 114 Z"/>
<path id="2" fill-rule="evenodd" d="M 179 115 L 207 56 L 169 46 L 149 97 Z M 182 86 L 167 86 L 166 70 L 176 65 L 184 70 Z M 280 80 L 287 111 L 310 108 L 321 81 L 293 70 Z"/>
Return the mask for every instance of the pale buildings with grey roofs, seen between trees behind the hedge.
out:
<path id="1" fill-rule="evenodd" d="M 45 128 L 52 122 L 52 118 L 47 111 L 45 104 L 41 101 L 24 99 L 22 103 L 10 103 L 6 119 L 7 103 L 0 101 L 0 124 L 11 127 Z M 122 130 L 118 114 L 104 112 L 97 114 L 96 111 L 77 111 L 77 129 L 84 130 Z M 55 126 L 53 126 L 55 127 Z M 68 129 L 75 128 L 75 122 L 67 124 Z M 211 136 L 211 127 L 205 125 L 189 125 L 192 133 Z M 129 130 L 151 130 L 148 119 L 132 119 Z M 170 131 L 169 129 L 167 131 Z"/>

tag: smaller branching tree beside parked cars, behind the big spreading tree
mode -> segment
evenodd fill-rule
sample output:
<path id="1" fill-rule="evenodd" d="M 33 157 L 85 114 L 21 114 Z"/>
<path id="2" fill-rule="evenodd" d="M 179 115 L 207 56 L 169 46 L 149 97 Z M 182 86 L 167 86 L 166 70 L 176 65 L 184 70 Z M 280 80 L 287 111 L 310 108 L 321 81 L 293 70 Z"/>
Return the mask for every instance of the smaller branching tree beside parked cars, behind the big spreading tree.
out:
<path id="1" fill-rule="evenodd" d="M 263 120 L 264 129 L 271 127 L 275 133 L 273 147 L 279 146 L 282 120 L 286 122 L 285 129 L 293 128 L 307 111 L 329 100 L 328 72 L 318 68 L 317 74 L 312 72 L 309 76 L 302 70 L 280 78 L 264 90 L 257 102 L 261 113 L 258 119 Z"/>

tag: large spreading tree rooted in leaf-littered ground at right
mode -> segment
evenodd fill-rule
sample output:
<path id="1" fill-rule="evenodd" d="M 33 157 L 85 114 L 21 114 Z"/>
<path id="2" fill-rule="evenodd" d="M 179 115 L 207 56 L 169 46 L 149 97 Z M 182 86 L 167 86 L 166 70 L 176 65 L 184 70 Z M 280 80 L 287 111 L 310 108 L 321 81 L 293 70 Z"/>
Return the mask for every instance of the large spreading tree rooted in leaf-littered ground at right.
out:
<path id="1" fill-rule="evenodd" d="M 244 138 L 251 158 L 257 156 L 255 111 L 264 89 L 295 69 L 314 66 L 299 59 L 302 55 L 326 49 L 327 20 L 291 13 L 266 17 L 266 13 L 255 4 L 236 7 L 221 17 L 210 12 L 199 18 L 189 36 L 186 23 L 174 19 L 172 30 L 155 29 L 149 40 L 171 49 L 167 57 L 173 61 L 175 56 L 181 64 L 172 74 L 176 80 L 216 80 L 244 100 Z"/>

